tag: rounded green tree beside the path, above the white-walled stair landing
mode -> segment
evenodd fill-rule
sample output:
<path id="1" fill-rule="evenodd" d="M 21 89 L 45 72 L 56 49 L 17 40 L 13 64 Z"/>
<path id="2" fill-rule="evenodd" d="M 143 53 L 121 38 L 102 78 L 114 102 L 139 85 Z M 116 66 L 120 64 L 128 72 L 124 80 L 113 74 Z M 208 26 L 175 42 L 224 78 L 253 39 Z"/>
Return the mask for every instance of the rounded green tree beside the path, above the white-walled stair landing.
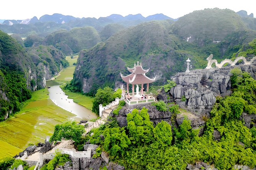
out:
<path id="1" fill-rule="evenodd" d="M 65 140 L 72 139 L 75 142 L 79 142 L 84 132 L 84 126 L 77 125 L 76 122 L 65 122 L 55 125 L 50 141 L 61 141 L 64 138 Z"/>

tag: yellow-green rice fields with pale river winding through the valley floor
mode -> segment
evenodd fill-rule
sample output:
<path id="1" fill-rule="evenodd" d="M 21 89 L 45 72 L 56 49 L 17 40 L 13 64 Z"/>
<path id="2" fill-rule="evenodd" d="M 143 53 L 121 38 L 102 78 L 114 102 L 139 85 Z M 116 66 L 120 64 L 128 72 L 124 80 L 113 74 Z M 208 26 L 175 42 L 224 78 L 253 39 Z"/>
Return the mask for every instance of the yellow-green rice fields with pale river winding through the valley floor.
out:
<path id="1" fill-rule="evenodd" d="M 70 63 L 77 61 L 77 56 L 73 59 L 70 56 L 66 58 Z M 73 71 L 67 72 L 69 69 L 74 71 L 75 66 L 70 65 L 63 69 L 60 72 L 59 79 L 46 82 L 46 87 L 51 88 L 34 91 L 31 99 L 23 103 L 21 111 L 8 120 L 0 122 L 0 144 L 2 146 L 0 149 L 0 159 L 18 154 L 29 144 L 44 142 L 46 136 L 52 135 L 56 124 L 68 120 L 79 121 L 81 119 L 90 120 L 96 118 L 95 114 L 89 110 L 91 109 L 92 98 L 88 96 L 69 92 L 71 98 L 74 98 L 75 101 L 79 98 L 77 103 L 81 103 L 83 106 L 73 103 L 72 99 L 68 99 L 69 102 L 67 101 L 66 104 L 63 103 L 63 100 L 67 99 L 67 94 L 65 95 L 59 88 L 60 85 L 58 83 L 67 82 L 72 79 Z M 56 97 L 52 97 L 56 92 L 59 95 L 60 93 L 62 94 L 61 96 L 57 96 L 57 99 Z M 60 104 L 54 104 L 56 100 L 59 100 Z M 65 106 L 67 104 L 69 105 L 68 108 Z"/>

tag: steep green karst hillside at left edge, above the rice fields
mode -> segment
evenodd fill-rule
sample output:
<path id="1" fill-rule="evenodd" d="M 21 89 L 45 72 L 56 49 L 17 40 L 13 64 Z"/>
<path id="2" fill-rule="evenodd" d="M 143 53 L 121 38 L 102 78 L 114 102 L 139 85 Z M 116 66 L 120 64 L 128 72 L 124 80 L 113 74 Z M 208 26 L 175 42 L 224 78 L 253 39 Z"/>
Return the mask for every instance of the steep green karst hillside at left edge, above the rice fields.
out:
<path id="1" fill-rule="evenodd" d="M 67 66 L 61 51 L 54 47 L 23 47 L 0 31 L 0 121 L 20 110 L 31 90 L 45 86 L 45 80 Z"/>

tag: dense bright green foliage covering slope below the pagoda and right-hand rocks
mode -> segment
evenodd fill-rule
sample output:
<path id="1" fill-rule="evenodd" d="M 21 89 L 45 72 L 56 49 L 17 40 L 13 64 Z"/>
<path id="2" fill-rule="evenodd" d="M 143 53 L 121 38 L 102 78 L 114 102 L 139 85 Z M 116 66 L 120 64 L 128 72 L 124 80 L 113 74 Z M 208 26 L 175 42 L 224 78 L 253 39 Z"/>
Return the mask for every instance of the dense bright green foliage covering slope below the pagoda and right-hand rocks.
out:
<path id="1" fill-rule="evenodd" d="M 256 80 L 237 69 L 232 72 L 232 96 L 217 98 L 201 136 L 186 118 L 173 133 L 164 121 L 153 127 L 143 108 L 127 114 L 127 127 L 118 127 L 113 119 L 91 130 L 94 135 L 87 135 L 84 140 L 99 144 L 101 151 L 108 152 L 111 160 L 126 169 L 185 169 L 188 163 L 198 161 L 214 164 L 218 169 L 232 169 L 235 164 L 256 167 L 256 128 L 249 129 L 240 120 L 241 112 L 255 107 Z M 158 105 L 161 110 L 166 109 L 161 101 Z M 177 105 L 169 109 L 178 112 Z M 215 140 L 214 130 L 220 132 L 220 140 Z"/>

